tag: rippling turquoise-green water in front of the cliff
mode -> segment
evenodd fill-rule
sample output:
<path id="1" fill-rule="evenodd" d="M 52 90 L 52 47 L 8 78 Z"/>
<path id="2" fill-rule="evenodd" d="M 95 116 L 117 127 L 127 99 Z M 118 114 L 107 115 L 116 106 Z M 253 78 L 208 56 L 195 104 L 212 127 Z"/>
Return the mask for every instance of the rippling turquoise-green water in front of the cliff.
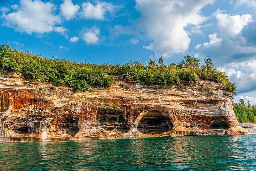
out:
<path id="1" fill-rule="evenodd" d="M 0 143 L 0 170 L 256 170 L 256 134 Z"/>

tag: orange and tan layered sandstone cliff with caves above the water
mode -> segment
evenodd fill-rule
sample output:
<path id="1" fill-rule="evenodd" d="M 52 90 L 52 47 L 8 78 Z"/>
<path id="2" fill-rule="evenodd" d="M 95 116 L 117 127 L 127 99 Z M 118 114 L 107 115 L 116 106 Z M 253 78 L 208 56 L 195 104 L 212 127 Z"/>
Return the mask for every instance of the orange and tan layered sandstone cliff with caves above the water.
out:
<path id="1" fill-rule="evenodd" d="M 0 142 L 247 134 L 220 83 L 146 86 L 116 79 L 108 88 L 0 78 Z"/>

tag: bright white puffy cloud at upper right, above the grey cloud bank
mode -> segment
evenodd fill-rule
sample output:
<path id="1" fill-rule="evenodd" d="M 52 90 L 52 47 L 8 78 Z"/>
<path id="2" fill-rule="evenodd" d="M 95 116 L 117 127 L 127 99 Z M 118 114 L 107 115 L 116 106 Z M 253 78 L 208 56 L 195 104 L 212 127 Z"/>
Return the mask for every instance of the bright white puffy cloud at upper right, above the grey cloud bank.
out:
<path id="1" fill-rule="evenodd" d="M 218 20 L 218 27 L 225 34 L 236 35 L 241 33 L 241 30 L 251 22 L 252 16 L 250 14 L 243 15 L 233 15 L 218 13 L 216 14 L 216 19 Z"/>

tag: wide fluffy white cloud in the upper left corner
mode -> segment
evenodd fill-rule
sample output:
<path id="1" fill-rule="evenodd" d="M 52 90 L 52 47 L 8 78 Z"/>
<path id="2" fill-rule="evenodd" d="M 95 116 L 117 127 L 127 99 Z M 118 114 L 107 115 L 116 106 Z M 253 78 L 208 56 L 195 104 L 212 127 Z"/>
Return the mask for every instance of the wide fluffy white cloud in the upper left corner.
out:
<path id="1" fill-rule="evenodd" d="M 20 6 L 12 6 L 14 11 L 4 14 L 4 25 L 16 31 L 31 33 L 48 33 L 61 23 L 60 16 L 55 15 L 56 6 L 40 0 L 21 0 Z"/>

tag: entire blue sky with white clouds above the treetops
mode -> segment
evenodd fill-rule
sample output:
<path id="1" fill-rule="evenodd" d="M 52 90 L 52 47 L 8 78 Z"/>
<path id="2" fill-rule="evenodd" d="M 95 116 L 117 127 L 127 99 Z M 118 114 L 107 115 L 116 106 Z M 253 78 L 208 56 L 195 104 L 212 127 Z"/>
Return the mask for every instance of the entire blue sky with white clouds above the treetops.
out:
<path id="1" fill-rule="evenodd" d="M 1 44 L 97 64 L 211 57 L 235 100 L 256 105 L 255 0 L 10 0 L 0 11 Z"/>

